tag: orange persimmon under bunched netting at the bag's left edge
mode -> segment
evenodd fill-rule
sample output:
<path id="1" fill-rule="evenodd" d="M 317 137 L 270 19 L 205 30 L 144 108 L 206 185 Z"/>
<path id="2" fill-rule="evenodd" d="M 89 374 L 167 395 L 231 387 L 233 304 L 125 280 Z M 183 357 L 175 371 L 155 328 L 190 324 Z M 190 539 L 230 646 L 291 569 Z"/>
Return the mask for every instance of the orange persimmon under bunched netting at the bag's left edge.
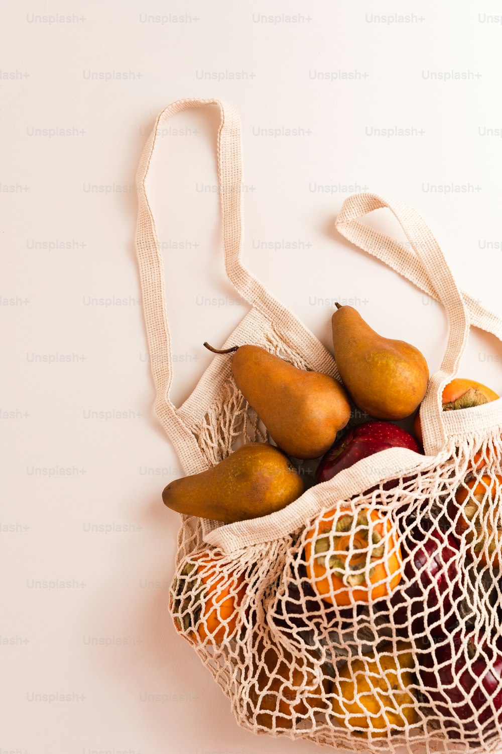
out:
<path id="1" fill-rule="evenodd" d="M 190 643 L 209 639 L 221 644 L 235 636 L 247 584 L 244 575 L 224 571 L 220 559 L 211 553 L 190 556 L 181 569 L 184 578 L 173 581 L 175 627 Z"/>

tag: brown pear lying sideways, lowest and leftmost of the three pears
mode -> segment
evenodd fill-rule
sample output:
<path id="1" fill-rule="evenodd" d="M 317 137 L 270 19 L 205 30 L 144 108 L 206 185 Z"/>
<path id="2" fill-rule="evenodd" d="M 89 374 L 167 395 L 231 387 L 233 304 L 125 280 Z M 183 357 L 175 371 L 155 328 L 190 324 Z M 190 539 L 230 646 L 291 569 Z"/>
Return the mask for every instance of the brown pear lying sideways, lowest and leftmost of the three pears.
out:
<path id="1" fill-rule="evenodd" d="M 216 466 L 169 483 L 162 499 L 178 513 L 231 523 L 281 510 L 303 489 L 283 452 L 268 443 L 248 443 Z"/>

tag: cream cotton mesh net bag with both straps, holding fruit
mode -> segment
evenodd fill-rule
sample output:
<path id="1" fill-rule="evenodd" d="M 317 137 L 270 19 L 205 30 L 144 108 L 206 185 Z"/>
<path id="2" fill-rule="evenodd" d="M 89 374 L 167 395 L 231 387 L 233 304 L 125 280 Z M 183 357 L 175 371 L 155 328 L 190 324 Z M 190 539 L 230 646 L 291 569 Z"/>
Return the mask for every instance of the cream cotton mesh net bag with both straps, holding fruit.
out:
<path id="1" fill-rule="evenodd" d="M 215 359 L 181 408 L 163 266 L 145 179 L 157 130 L 181 109 L 221 110 L 218 175 L 227 274 L 251 309 L 225 346 L 253 343 L 339 378 L 331 354 L 239 261 L 239 118 L 218 100 L 159 117 L 138 169 L 137 250 L 156 410 L 186 474 L 242 443 L 270 440 Z M 389 207 L 407 249 L 357 218 Z M 277 513 L 221 526 L 182 516 L 169 608 L 230 699 L 239 725 L 339 749 L 492 751 L 502 736 L 499 564 L 502 400 L 443 412 L 470 326 L 502 322 L 458 290 L 431 231 L 409 207 L 348 198 L 340 233 L 441 302 L 449 339 L 421 406 L 424 455 L 394 448 L 312 486 Z"/>

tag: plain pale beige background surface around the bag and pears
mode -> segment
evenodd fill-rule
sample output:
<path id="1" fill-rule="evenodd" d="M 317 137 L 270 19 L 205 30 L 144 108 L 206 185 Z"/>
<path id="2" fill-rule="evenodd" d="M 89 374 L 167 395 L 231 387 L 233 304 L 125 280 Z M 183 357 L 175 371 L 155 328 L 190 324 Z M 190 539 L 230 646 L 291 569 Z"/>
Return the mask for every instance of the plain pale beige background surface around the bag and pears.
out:
<path id="1" fill-rule="evenodd" d="M 167 103 L 233 103 L 245 264 L 328 347 L 339 299 L 435 369 L 443 311 L 351 249 L 333 218 L 361 190 L 412 204 L 461 286 L 502 314 L 500 7 L 91 0 L 0 13 L 0 751 L 314 752 L 240 730 L 169 621 L 178 520 L 160 492 L 180 472 L 152 411 L 135 170 Z M 180 403 L 211 358 L 202 341 L 221 344 L 245 305 L 224 279 L 217 115 L 171 124 L 149 187 Z M 500 354 L 474 335 L 464 375 L 502 391 Z"/>

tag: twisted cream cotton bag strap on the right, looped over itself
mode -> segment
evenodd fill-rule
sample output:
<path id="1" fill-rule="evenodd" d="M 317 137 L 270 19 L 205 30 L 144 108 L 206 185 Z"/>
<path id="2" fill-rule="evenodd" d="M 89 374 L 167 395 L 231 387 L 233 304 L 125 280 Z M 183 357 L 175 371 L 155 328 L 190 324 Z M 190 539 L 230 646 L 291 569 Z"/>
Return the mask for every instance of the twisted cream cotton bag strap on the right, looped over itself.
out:
<path id="1" fill-rule="evenodd" d="M 388 207 L 403 228 L 414 253 L 387 234 L 357 222 L 367 213 Z M 405 277 L 440 301 L 449 319 L 449 336 L 440 369 L 431 376 L 421 406 L 422 432 L 426 455 L 436 455 L 447 440 L 443 418 L 443 389 L 458 372 L 467 345 L 470 318 L 467 302 L 458 290 L 443 252 L 418 213 L 406 204 L 388 202 L 375 194 L 357 194 L 345 199 L 336 219 L 339 232 L 356 246 L 387 262 Z M 434 282 L 433 282 L 434 281 Z M 470 299 L 470 297 L 468 297 Z M 474 305 L 470 299 L 470 304 Z M 481 308 L 473 306 L 478 320 L 497 329 L 497 323 Z M 490 330 L 491 331 L 491 330 Z"/>

